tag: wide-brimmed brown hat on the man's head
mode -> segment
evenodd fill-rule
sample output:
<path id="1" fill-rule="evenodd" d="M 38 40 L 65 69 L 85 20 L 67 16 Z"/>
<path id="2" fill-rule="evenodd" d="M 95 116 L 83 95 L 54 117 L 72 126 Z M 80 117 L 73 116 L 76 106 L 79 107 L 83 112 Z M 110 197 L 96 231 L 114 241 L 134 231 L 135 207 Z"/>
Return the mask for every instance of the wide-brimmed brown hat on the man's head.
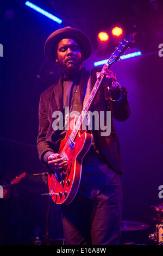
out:
<path id="1" fill-rule="evenodd" d="M 92 47 L 91 47 L 90 40 L 87 38 L 87 36 L 79 29 L 72 28 L 72 27 L 65 27 L 65 28 L 60 28 L 57 31 L 54 31 L 51 35 L 48 36 L 44 46 L 45 56 L 48 59 L 54 62 L 55 60 L 54 47 L 58 45 L 58 42 L 61 39 L 64 39 L 64 38 L 71 38 L 78 43 L 84 59 L 87 59 L 90 57 Z"/>

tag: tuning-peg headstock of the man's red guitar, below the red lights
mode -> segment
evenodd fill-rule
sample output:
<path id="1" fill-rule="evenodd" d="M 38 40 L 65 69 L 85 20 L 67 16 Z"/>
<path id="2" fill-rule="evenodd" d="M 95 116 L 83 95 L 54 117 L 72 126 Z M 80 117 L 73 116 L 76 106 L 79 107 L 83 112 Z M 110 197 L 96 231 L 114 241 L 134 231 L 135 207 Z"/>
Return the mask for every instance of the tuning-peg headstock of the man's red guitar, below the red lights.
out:
<path id="1" fill-rule="evenodd" d="M 111 54 L 111 57 L 109 58 L 106 65 L 110 66 L 112 63 L 120 59 L 121 55 L 130 46 L 132 41 L 133 41 L 133 35 L 131 34 L 126 35 L 125 38 L 123 38 L 123 40 L 120 42 L 118 47 L 116 47 L 115 51 Z"/>

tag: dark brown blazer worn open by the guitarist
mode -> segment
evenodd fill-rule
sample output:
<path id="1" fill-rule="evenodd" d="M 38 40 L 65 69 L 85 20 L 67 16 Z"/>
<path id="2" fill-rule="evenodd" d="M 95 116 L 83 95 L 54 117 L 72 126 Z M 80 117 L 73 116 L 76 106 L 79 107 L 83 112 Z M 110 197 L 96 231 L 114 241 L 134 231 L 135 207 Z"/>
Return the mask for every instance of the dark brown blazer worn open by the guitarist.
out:
<path id="1" fill-rule="evenodd" d="M 93 69 L 91 71 L 91 89 L 96 82 L 96 72 L 101 69 Z M 84 89 L 89 78 L 89 71 L 82 68 L 79 89 L 80 99 L 83 99 Z M 111 82 L 111 81 L 110 81 Z M 102 151 L 106 160 L 111 167 L 117 172 L 122 173 L 124 166 L 121 157 L 120 144 L 115 132 L 113 118 L 119 121 L 124 121 L 129 118 L 130 109 L 127 101 L 127 92 L 122 87 L 123 97 L 120 101 L 110 101 L 109 91 L 105 84 L 99 89 L 95 100 L 92 103 L 91 111 L 111 111 L 111 133 L 109 136 L 101 136 L 101 130 L 92 131 L 93 138 L 97 148 Z M 37 150 L 40 160 L 43 161 L 43 155 L 47 151 L 58 152 L 60 144 L 60 131 L 53 130 L 52 123 L 55 118 L 52 118 L 54 111 L 63 112 L 63 88 L 62 80 L 53 84 L 40 96 L 39 103 L 39 135 L 37 136 Z"/>

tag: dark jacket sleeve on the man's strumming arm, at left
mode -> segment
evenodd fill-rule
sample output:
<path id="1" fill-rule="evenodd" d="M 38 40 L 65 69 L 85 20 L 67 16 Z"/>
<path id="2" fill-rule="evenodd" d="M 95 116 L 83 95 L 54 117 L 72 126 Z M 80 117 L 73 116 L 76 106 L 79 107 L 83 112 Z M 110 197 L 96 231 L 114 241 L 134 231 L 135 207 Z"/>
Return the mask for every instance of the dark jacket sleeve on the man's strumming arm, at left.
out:
<path id="1" fill-rule="evenodd" d="M 48 121 L 48 109 L 43 94 L 40 96 L 39 102 L 39 135 L 37 136 L 37 151 L 39 153 L 39 159 L 46 164 L 43 160 L 43 156 L 47 151 L 53 151 L 52 146 L 46 141 L 46 135 L 49 127 Z"/>

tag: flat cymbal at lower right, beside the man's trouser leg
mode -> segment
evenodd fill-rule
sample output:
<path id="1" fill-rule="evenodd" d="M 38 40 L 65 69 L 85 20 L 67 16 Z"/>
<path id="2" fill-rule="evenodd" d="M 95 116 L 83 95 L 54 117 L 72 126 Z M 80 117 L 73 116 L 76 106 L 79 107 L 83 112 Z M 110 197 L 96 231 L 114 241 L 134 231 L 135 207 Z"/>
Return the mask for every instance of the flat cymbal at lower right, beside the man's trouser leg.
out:
<path id="1" fill-rule="evenodd" d="M 122 221 L 121 222 L 121 231 L 133 231 L 133 230 L 142 230 L 149 228 L 150 226 L 146 223 L 137 222 L 137 221 Z"/>

